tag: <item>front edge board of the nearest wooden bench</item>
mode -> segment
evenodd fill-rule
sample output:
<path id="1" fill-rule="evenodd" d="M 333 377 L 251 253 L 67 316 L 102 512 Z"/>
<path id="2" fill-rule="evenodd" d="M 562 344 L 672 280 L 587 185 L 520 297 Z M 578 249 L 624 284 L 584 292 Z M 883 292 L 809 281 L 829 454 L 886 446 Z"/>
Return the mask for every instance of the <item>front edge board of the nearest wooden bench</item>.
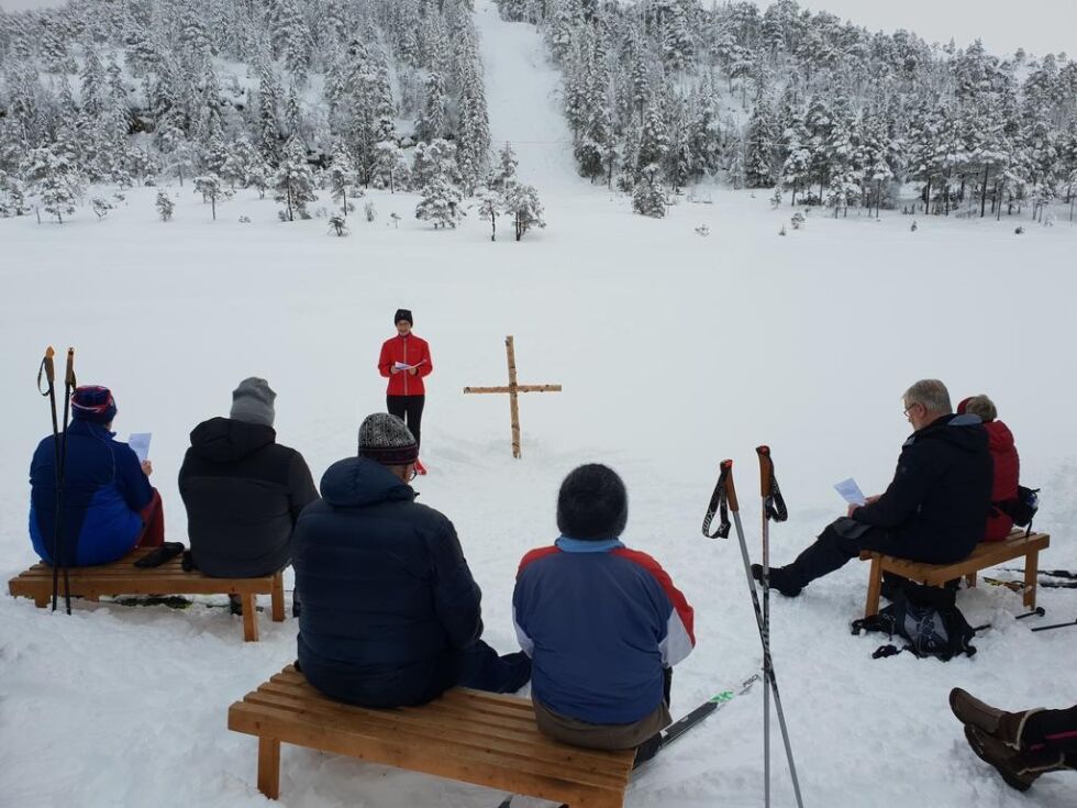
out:
<path id="1" fill-rule="evenodd" d="M 565 770 L 560 775 L 552 774 L 548 767 L 531 759 L 507 755 L 500 750 L 462 746 L 408 731 L 389 735 L 366 733 L 354 721 L 324 715 L 304 716 L 248 701 L 232 705 L 229 729 L 536 797 L 545 797 L 540 792 L 548 789 L 549 799 L 559 799 L 566 785 L 593 792 L 623 792 L 624 788 L 624 777 L 577 771 L 567 776 Z"/>

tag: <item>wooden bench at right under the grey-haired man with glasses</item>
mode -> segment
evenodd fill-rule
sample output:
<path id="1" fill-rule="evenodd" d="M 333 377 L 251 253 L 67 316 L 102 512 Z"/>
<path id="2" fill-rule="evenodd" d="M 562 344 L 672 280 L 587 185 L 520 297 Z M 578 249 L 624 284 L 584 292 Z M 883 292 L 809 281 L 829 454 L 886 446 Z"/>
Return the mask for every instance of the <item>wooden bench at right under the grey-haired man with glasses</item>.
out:
<path id="1" fill-rule="evenodd" d="M 1040 551 L 1051 544 L 1046 533 L 1025 535 L 1023 530 L 1014 530 L 1000 542 L 980 542 L 962 561 L 953 564 L 922 564 L 908 558 L 898 558 L 865 550 L 861 560 L 871 561 L 868 573 L 867 604 L 864 617 L 879 613 L 879 595 L 882 587 L 882 573 L 895 573 L 910 580 L 928 586 L 945 586 L 946 582 L 964 577 L 968 586 L 976 586 L 976 573 L 997 564 L 1024 556 L 1024 605 L 1030 609 L 1036 606 L 1036 573 L 1040 568 Z"/>

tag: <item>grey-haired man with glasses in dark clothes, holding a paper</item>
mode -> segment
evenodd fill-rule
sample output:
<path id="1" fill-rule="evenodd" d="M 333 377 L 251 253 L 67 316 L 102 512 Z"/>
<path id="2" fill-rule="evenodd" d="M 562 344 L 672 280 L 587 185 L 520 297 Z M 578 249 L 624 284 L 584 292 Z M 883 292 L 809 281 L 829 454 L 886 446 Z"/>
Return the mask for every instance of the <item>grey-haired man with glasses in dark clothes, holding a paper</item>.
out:
<path id="1" fill-rule="evenodd" d="M 770 567 L 770 586 L 782 595 L 799 595 L 862 550 L 950 564 L 984 539 L 992 463 L 980 419 L 953 414 L 950 392 L 937 379 L 917 381 L 902 403 L 913 433 L 901 446 L 890 485 L 865 505 L 851 505 L 795 562 Z M 759 578 L 763 569 L 755 565 L 753 573 Z"/>

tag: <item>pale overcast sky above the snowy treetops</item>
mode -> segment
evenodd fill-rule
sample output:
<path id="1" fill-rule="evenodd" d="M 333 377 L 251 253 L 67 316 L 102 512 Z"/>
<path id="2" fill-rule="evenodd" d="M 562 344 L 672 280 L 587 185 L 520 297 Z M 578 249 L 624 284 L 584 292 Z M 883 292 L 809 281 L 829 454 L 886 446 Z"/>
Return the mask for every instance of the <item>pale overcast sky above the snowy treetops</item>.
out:
<path id="1" fill-rule="evenodd" d="M 720 1 L 720 0 L 719 0 Z M 703 0 L 710 5 L 711 0 Z M 0 9 L 59 5 L 63 0 L 0 0 Z M 760 8 L 770 3 L 756 0 Z M 1077 0 L 800 0 L 870 31 L 908 29 L 928 42 L 966 45 L 976 37 L 1009 56 L 1019 46 L 1036 55 L 1065 51 L 1077 58 Z"/>

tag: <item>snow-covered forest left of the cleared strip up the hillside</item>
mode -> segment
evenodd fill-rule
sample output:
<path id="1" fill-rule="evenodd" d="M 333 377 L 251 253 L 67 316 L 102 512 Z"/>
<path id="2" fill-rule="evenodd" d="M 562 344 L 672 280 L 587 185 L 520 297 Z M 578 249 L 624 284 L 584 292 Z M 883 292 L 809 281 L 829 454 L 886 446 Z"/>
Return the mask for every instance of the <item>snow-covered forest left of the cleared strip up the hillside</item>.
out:
<path id="1" fill-rule="evenodd" d="M 511 147 L 491 161 L 467 0 L 87 0 L 0 11 L 0 215 L 34 196 L 63 221 L 87 184 L 191 178 L 214 204 L 313 189 L 414 189 L 455 226 L 462 198 L 542 225 Z M 497 170 L 488 174 L 491 163 Z M 357 190 L 358 189 L 358 190 Z M 170 215 L 158 198 L 162 219 Z M 95 211 L 109 202 L 95 200 Z"/>

